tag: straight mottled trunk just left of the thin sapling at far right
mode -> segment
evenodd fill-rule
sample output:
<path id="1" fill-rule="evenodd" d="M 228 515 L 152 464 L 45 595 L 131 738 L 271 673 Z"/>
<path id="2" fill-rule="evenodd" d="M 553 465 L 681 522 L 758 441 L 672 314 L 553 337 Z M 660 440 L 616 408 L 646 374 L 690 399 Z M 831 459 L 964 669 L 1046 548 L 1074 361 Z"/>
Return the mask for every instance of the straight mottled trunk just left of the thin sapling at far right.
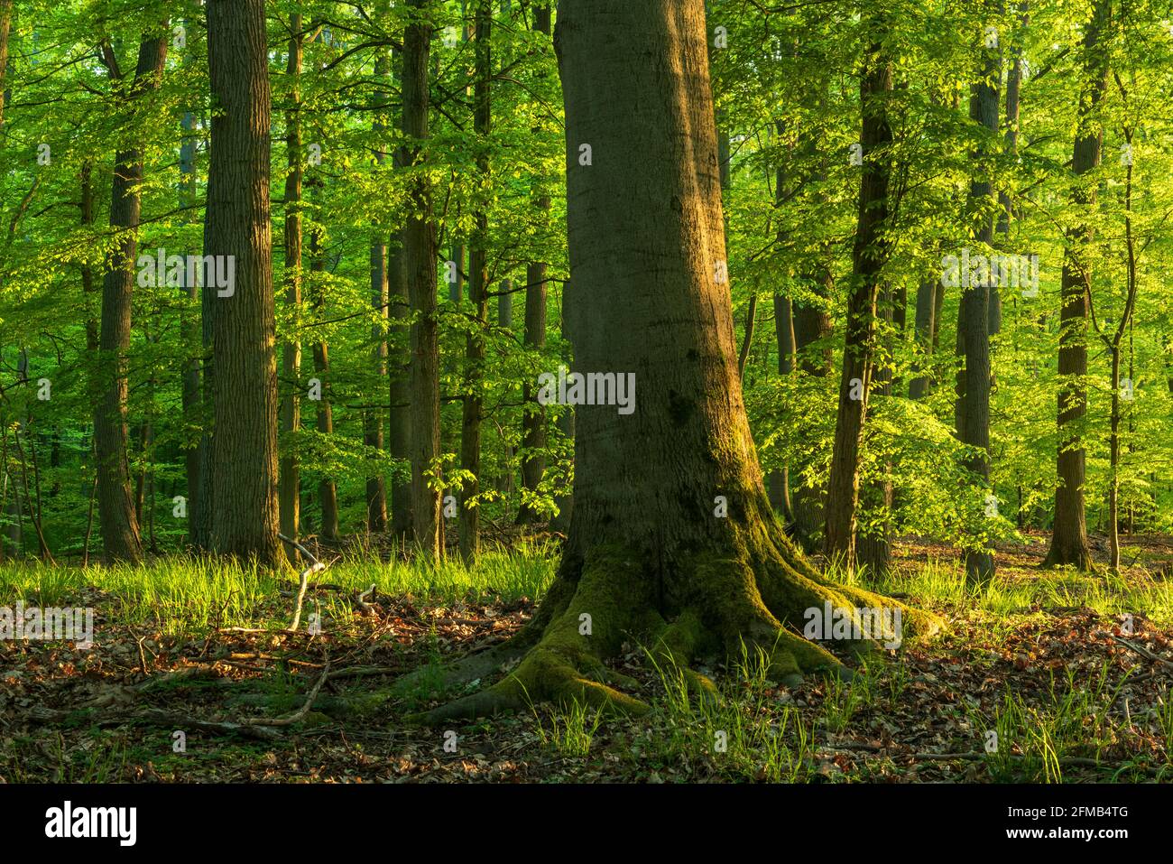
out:
<path id="1" fill-rule="evenodd" d="M 1091 217 L 1096 190 L 1082 178 L 1099 166 L 1104 130 L 1098 113 L 1107 89 L 1108 46 L 1105 31 L 1111 21 L 1111 0 L 1097 0 L 1092 20 L 1084 29 L 1084 86 L 1079 94 L 1079 124 L 1071 170 L 1076 185 L 1071 201 Z M 1055 525 L 1045 566 L 1072 565 L 1087 569 L 1092 563 L 1084 513 L 1086 463 L 1078 427 L 1087 412 L 1087 316 L 1091 305 L 1091 264 L 1086 251 L 1092 242 L 1089 223 L 1067 230 L 1059 288 L 1059 430 L 1056 466 Z"/>

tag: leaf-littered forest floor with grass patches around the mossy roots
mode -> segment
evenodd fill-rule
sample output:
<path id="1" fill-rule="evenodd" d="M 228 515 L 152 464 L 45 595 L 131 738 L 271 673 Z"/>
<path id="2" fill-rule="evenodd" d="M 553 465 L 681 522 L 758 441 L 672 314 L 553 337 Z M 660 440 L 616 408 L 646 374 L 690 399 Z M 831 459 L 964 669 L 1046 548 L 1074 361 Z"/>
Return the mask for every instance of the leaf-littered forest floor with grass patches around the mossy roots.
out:
<path id="1" fill-rule="evenodd" d="M 1040 571 L 1044 539 L 1030 539 L 999 548 L 997 579 L 972 593 L 954 551 L 906 538 L 894 572 L 863 583 L 950 629 L 850 683 L 788 689 L 751 656 L 701 667 L 724 698 L 699 703 L 631 643 L 616 666 L 644 717 L 540 706 L 450 729 L 404 720 L 452 694 L 391 682 L 521 627 L 552 546 L 470 572 L 347 554 L 297 633 L 280 632 L 289 581 L 185 559 L 8 565 L 0 606 L 93 607 L 95 637 L 0 641 L 0 782 L 1173 779 L 1173 539 L 1126 538 L 1119 576 Z"/>

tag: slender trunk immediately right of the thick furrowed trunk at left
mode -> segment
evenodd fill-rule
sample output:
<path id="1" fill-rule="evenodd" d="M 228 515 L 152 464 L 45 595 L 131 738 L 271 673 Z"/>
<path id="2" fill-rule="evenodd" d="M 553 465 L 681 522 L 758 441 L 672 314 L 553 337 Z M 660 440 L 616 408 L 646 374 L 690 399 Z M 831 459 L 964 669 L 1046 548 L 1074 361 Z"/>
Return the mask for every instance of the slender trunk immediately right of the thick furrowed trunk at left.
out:
<path id="1" fill-rule="evenodd" d="M 280 433 L 286 452 L 280 458 L 277 480 L 282 533 L 297 540 L 301 529 L 301 467 L 292 452 L 293 439 L 301 428 L 301 14 L 290 15 L 289 60 L 285 74 L 290 79 L 290 107 L 285 112 L 285 304 L 293 311 L 293 338 L 282 346 Z M 291 555 L 298 553 L 291 552 Z"/>

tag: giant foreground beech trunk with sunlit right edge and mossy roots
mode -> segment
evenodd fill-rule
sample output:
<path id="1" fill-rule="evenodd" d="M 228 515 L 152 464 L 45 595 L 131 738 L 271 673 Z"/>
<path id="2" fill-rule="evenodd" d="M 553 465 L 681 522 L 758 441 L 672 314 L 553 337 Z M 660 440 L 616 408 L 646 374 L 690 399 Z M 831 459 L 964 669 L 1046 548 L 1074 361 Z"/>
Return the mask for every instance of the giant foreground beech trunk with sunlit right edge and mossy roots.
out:
<path id="1" fill-rule="evenodd" d="M 894 605 L 827 582 L 766 498 L 730 286 L 718 278 L 726 252 L 703 0 L 562 0 L 556 27 L 574 371 L 635 373 L 635 411 L 577 406 L 575 505 L 557 579 L 513 643 L 473 655 L 463 674 L 529 650 L 432 722 L 540 698 L 638 713 L 643 703 L 603 664 L 629 633 L 685 668 L 697 653 L 760 646 L 772 674 L 793 683 L 841 668 L 795 635 L 805 609 Z M 579 164 L 582 144 L 591 166 Z M 931 621 L 908 610 L 906 636 L 913 619 Z"/>

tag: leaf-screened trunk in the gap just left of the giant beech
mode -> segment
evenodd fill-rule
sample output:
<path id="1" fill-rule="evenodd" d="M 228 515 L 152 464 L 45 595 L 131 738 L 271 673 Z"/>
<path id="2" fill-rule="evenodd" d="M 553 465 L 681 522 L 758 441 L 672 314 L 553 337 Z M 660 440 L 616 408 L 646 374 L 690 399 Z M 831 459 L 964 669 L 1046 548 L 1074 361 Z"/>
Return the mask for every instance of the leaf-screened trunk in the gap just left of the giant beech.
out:
<path id="1" fill-rule="evenodd" d="M 543 4 L 534 9 L 534 29 L 550 35 L 550 6 Z M 549 221 L 550 196 L 537 190 L 534 207 L 538 218 Z M 534 261 L 526 268 L 526 346 L 534 353 L 541 353 L 545 347 L 545 262 Z M 524 407 L 521 420 L 521 485 L 528 493 L 536 493 L 542 475 L 545 473 L 545 409 L 537 401 L 537 389 L 529 379 L 523 389 Z M 537 519 L 537 512 L 522 504 L 517 513 L 517 522 L 526 524 Z"/>

